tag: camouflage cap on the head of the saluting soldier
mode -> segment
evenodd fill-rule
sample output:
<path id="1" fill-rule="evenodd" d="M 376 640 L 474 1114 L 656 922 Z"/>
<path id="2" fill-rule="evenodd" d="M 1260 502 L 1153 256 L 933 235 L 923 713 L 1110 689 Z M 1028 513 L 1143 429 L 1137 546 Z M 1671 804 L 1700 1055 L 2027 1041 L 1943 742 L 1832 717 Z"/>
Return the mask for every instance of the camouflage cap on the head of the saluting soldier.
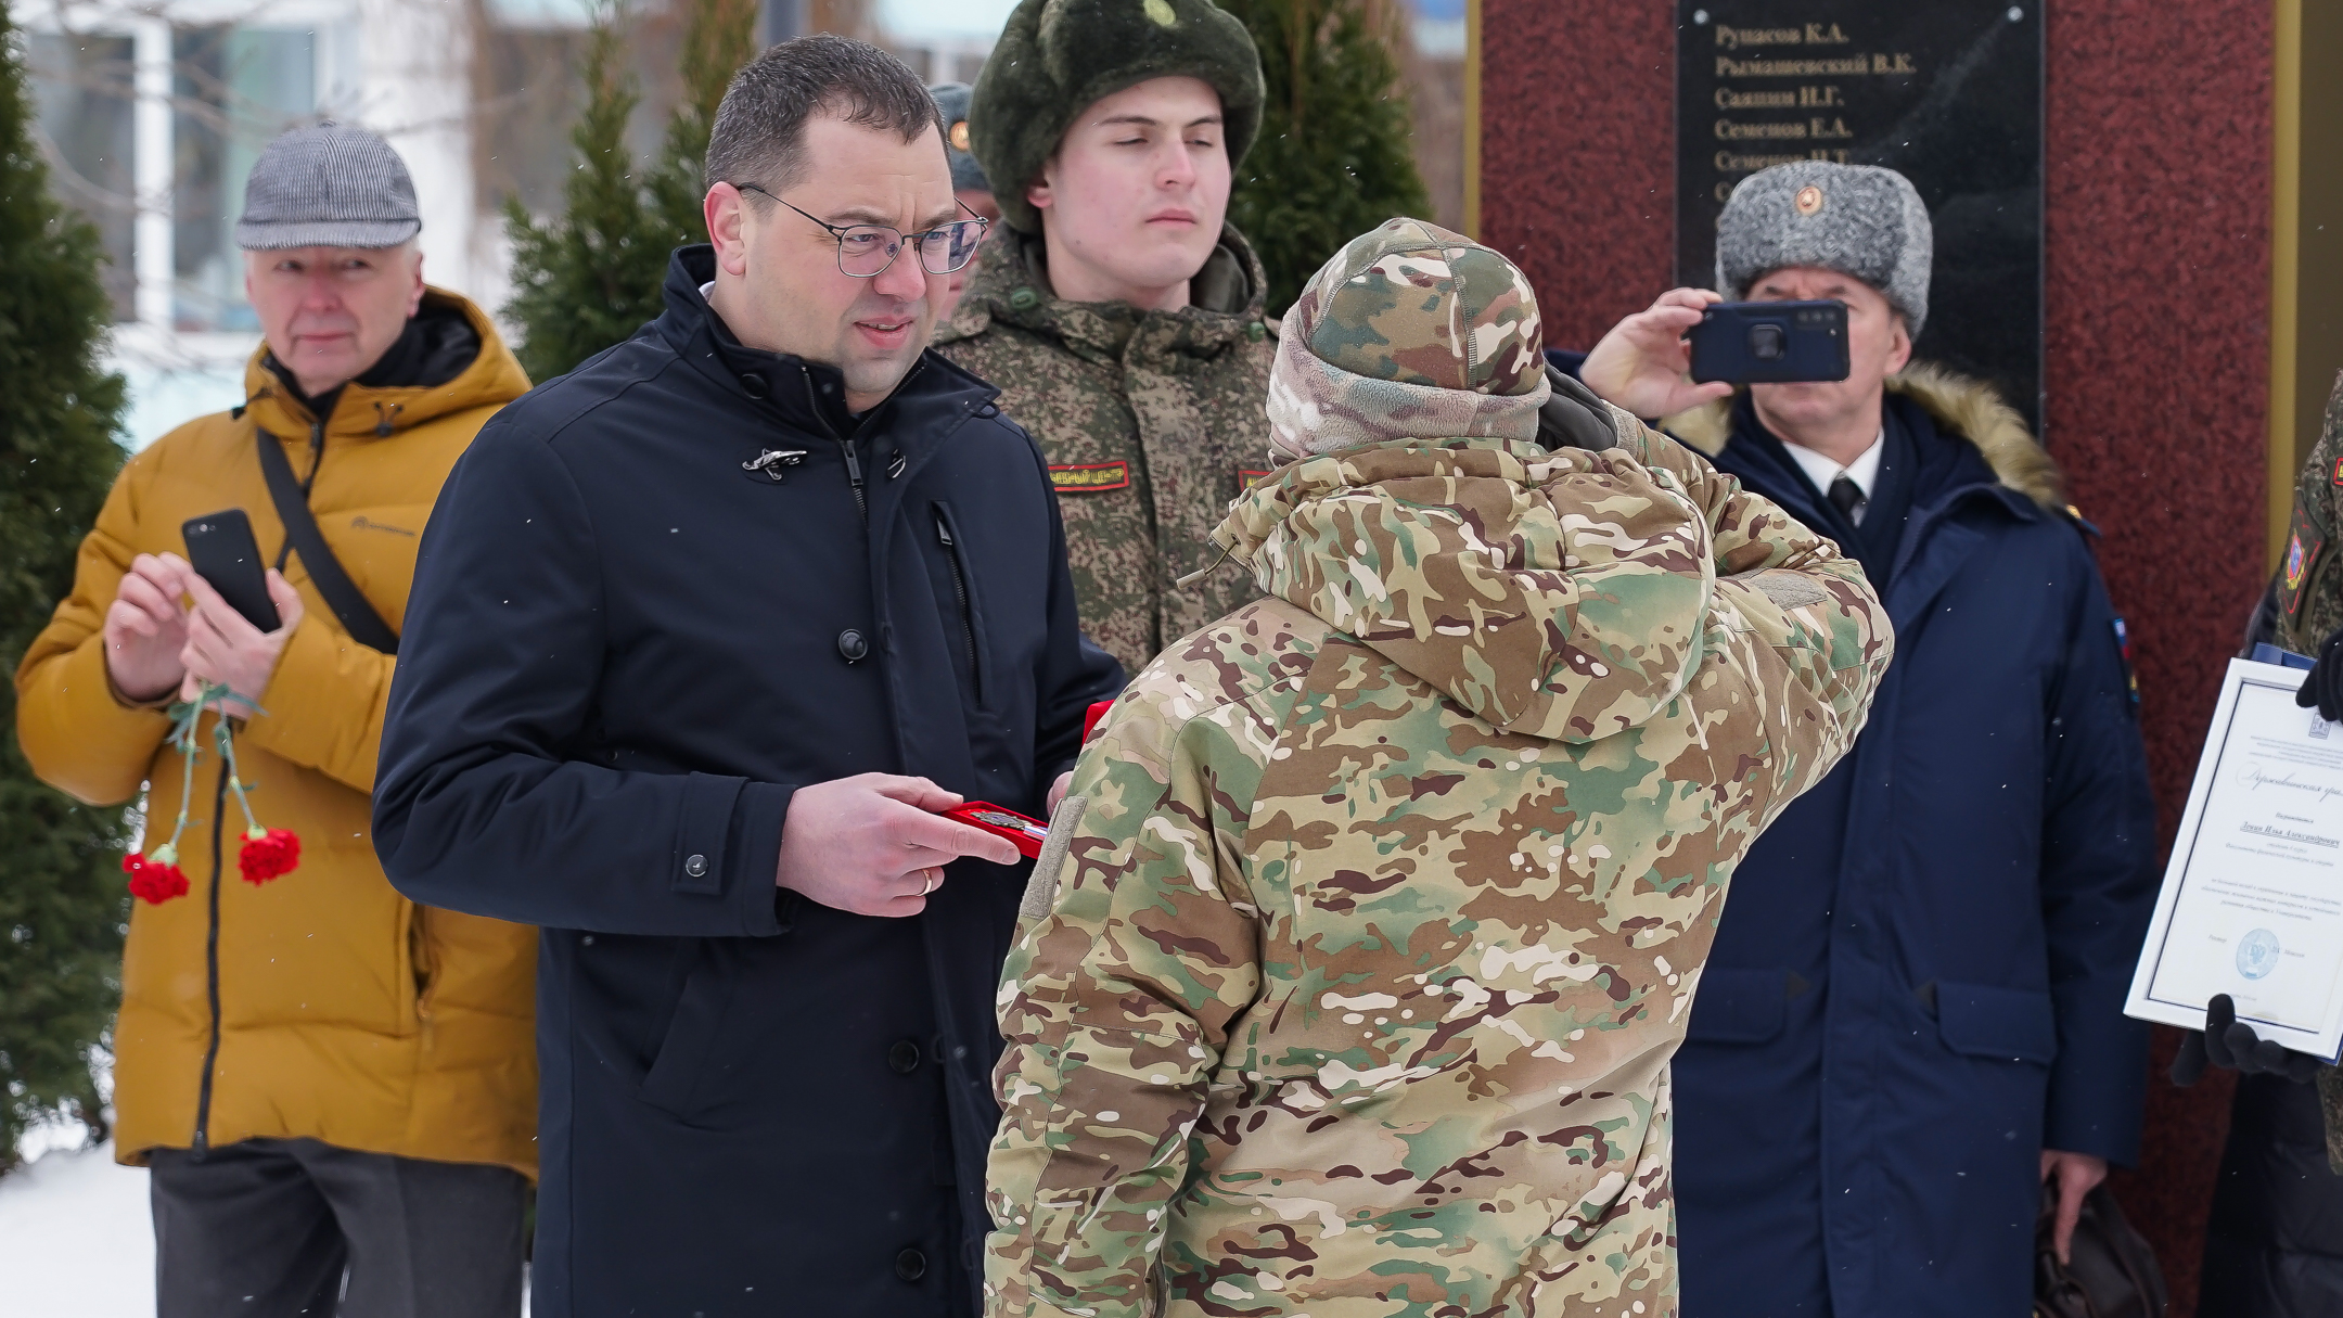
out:
<path id="1" fill-rule="evenodd" d="M 1537 293 L 1504 256 L 1425 220 L 1350 239 L 1303 284 L 1270 368 L 1270 455 L 1387 439 L 1537 439 Z"/>

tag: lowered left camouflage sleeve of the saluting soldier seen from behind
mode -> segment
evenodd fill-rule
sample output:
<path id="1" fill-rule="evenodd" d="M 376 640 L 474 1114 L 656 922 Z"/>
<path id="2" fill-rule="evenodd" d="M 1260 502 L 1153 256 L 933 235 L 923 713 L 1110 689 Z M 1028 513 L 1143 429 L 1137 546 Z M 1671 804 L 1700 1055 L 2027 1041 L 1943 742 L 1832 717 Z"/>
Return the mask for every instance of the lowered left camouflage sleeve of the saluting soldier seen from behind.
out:
<path id="1" fill-rule="evenodd" d="M 1054 903 L 1019 931 L 1000 985 L 993 1318 L 1155 1311 L 1148 1278 L 1207 1079 L 1261 987 L 1237 842 L 1286 687 L 1200 708 L 1150 668 L 1075 769 L 1087 804 Z"/>

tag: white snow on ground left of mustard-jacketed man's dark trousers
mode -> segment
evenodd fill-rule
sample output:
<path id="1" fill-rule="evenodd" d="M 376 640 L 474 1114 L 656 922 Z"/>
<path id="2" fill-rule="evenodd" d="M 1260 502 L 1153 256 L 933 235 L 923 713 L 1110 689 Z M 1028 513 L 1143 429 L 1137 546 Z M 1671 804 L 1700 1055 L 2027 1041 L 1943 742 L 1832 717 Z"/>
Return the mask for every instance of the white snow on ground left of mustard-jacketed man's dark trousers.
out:
<path id="1" fill-rule="evenodd" d="M 9 1318 L 152 1318 L 145 1168 L 115 1166 L 105 1142 L 0 1177 L 0 1295 Z"/>

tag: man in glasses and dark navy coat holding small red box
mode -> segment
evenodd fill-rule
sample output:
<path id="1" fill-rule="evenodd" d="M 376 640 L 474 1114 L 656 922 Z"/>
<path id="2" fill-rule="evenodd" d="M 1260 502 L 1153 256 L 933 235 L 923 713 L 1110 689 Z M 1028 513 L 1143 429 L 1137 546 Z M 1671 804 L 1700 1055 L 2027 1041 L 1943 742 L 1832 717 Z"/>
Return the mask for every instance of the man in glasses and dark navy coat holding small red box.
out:
<path id="1" fill-rule="evenodd" d="M 1024 879 L 933 811 L 1040 814 L 1122 673 L 1033 441 L 925 352 L 982 225 L 918 77 L 773 47 L 705 174 L 665 312 L 448 481 L 375 844 L 544 926 L 541 1318 L 968 1316 Z"/>

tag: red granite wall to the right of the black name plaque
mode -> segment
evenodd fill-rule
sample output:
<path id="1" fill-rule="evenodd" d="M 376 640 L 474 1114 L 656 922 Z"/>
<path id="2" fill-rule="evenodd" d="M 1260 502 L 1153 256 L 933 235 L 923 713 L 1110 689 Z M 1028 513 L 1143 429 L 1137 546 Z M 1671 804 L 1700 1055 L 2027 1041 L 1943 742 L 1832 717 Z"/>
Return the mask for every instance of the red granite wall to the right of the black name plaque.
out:
<path id="1" fill-rule="evenodd" d="M 2270 5 L 2048 9 L 2048 432 L 2134 619 L 2163 837 L 2268 579 Z M 2158 1030 L 2158 1060 L 2179 1034 Z M 2226 1076 L 2224 1076 L 2226 1079 Z M 2149 1083 L 2118 1180 L 2195 1311 L 2231 1086 Z"/>

